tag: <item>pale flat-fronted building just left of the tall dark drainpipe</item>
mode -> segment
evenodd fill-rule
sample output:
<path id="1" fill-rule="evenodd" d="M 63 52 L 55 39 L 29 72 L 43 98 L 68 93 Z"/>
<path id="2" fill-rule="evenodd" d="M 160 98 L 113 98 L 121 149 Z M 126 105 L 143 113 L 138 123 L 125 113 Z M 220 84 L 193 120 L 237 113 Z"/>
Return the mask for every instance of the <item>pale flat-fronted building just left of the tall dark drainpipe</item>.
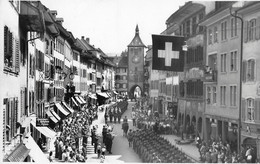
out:
<path id="1" fill-rule="evenodd" d="M 230 15 L 233 2 L 215 2 L 204 19 L 206 31 L 205 137 L 220 138 L 237 149 L 241 22 Z"/>

